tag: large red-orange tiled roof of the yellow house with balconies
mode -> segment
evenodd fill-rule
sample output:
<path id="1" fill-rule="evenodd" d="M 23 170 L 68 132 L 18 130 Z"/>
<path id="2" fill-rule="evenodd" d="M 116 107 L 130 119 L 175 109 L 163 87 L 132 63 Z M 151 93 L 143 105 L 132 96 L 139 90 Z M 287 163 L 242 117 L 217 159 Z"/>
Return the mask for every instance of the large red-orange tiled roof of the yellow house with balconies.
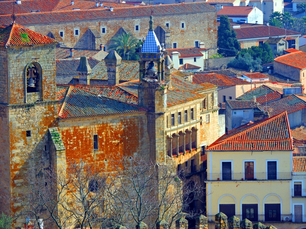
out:
<path id="1" fill-rule="evenodd" d="M 232 129 L 207 151 L 273 151 L 293 150 L 290 126 L 286 112 L 255 123 Z"/>

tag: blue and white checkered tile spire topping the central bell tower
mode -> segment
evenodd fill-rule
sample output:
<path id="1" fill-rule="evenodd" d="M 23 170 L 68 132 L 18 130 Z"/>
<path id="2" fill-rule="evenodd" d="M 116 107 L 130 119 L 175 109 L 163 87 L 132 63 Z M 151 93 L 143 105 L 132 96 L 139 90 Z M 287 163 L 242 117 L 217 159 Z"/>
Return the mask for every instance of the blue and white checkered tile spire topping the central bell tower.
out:
<path id="1" fill-rule="evenodd" d="M 146 39 L 144 40 L 144 44 L 141 48 L 142 53 L 159 53 L 161 49 L 160 43 L 153 31 L 153 20 L 152 16 L 150 16 L 150 27 L 149 32 L 147 34 Z"/>

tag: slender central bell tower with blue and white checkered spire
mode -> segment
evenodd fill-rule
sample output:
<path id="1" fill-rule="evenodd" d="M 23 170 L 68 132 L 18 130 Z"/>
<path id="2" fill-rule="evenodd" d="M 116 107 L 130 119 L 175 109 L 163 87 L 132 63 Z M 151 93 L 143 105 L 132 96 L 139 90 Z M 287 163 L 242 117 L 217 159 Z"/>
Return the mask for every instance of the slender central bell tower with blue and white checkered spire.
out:
<path id="1" fill-rule="evenodd" d="M 140 62 L 138 104 L 149 109 L 147 129 L 150 139 L 150 159 L 156 163 L 165 163 L 165 112 L 168 83 L 165 81 L 164 74 L 164 53 L 153 31 L 152 18 L 150 16 L 149 32 L 138 53 Z"/>

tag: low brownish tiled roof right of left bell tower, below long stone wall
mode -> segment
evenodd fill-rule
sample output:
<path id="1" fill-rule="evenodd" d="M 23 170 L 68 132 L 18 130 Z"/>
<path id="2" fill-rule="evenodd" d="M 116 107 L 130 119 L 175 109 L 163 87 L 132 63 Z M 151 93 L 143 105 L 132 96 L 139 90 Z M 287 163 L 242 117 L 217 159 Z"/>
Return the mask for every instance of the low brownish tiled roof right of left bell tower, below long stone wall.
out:
<path id="1" fill-rule="evenodd" d="M 73 56 L 70 56 L 71 48 L 55 48 L 55 59 L 77 59 L 81 56 L 93 57 L 99 52 L 104 52 L 102 50 L 92 50 L 92 49 L 73 49 Z"/>

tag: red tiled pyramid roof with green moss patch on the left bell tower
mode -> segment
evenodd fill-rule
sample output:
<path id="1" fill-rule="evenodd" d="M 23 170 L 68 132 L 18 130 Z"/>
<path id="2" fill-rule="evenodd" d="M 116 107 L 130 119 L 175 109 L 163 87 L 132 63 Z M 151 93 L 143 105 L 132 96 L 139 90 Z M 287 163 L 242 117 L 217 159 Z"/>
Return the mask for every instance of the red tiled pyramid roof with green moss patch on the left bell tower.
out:
<path id="1" fill-rule="evenodd" d="M 56 40 L 13 23 L 0 28 L 0 46 L 54 44 Z"/>

